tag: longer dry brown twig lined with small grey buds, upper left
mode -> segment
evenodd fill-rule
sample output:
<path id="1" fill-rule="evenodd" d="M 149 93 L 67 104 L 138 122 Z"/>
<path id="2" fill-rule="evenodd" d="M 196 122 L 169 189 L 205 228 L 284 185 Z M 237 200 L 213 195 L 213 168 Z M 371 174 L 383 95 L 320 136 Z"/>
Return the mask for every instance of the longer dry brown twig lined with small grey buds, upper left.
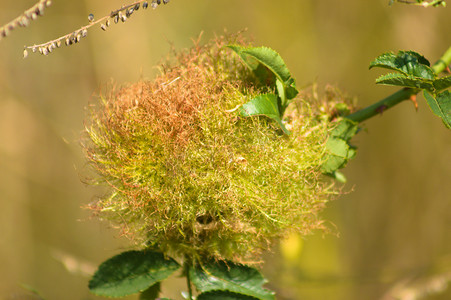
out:
<path id="1" fill-rule="evenodd" d="M 54 40 L 51 40 L 51 41 L 48 41 L 48 42 L 45 42 L 42 44 L 34 44 L 32 46 L 25 46 L 24 47 L 24 58 L 28 56 L 28 50 L 31 50 L 33 53 L 39 52 L 43 55 L 48 55 L 54 49 L 61 47 L 61 45 L 63 43 L 66 46 L 70 46 L 70 45 L 79 43 L 82 38 L 84 38 L 88 35 L 88 29 L 99 23 L 100 23 L 100 28 L 102 30 L 106 31 L 106 29 L 113 22 L 115 24 L 117 24 L 119 21 L 125 22 L 140 7 L 142 7 L 143 9 L 147 9 L 147 7 L 149 6 L 148 2 L 149 1 L 146 1 L 146 0 L 135 1 L 131 4 L 124 5 L 121 8 L 112 11 L 109 15 L 104 16 L 98 20 L 94 20 L 94 15 L 89 14 L 89 16 L 88 16 L 89 24 L 88 25 L 85 25 L 85 26 L 75 30 L 72 33 L 68 33 L 68 34 L 63 35 Z M 169 2 L 169 0 L 153 0 L 151 2 L 150 6 L 153 9 L 155 9 L 161 3 L 167 4 L 168 2 Z"/>

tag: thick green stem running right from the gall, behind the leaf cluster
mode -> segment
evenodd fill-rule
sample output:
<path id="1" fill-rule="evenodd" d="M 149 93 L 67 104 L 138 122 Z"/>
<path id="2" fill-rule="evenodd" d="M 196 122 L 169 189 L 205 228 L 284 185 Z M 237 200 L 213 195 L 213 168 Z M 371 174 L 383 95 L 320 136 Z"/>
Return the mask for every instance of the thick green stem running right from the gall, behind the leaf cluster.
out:
<path id="1" fill-rule="evenodd" d="M 446 50 L 445 54 L 432 66 L 432 69 L 436 74 L 440 74 L 448 65 L 451 64 L 451 47 Z M 412 96 L 416 95 L 420 90 L 412 88 L 403 88 L 390 96 L 371 104 L 353 114 L 350 114 L 346 118 L 354 122 L 361 123 L 369 118 L 379 115 L 387 109 L 401 103 L 404 100 L 411 99 Z"/>

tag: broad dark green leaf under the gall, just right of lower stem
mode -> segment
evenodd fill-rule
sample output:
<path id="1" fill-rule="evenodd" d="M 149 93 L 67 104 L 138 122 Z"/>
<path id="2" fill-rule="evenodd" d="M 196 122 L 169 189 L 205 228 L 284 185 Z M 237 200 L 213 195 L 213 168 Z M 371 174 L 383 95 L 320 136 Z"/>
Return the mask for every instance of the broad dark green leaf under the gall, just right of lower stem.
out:
<path id="1" fill-rule="evenodd" d="M 263 288 L 266 279 L 249 266 L 230 261 L 211 261 L 190 268 L 190 277 L 201 293 L 228 291 L 255 297 L 260 300 L 274 300 L 274 292 Z M 239 298 L 241 299 L 241 298 Z"/>

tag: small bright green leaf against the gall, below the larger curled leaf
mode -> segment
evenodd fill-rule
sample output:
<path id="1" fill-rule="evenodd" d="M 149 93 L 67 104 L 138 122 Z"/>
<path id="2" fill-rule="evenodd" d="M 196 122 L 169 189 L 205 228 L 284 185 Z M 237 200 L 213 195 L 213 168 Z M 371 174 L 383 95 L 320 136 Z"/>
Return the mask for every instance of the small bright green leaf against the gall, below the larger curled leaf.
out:
<path id="1" fill-rule="evenodd" d="M 243 117 L 266 116 L 276 121 L 285 134 L 290 134 L 282 123 L 277 96 L 274 94 L 261 94 L 243 104 L 240 109 L 240 115 Z"/>

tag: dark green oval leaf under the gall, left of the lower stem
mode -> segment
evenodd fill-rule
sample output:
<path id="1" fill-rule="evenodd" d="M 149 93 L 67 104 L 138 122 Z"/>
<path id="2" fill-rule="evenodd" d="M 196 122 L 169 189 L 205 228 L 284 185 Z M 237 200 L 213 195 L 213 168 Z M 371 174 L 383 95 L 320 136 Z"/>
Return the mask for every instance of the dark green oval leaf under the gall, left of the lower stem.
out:
<path id="1" fill-rule="evenodd" d="M 89 289 L 99 296 L 124 297 L 148 289 L 179 268 L 175 260 L 158 252 L 127 251 L 103 262 Z"/>

